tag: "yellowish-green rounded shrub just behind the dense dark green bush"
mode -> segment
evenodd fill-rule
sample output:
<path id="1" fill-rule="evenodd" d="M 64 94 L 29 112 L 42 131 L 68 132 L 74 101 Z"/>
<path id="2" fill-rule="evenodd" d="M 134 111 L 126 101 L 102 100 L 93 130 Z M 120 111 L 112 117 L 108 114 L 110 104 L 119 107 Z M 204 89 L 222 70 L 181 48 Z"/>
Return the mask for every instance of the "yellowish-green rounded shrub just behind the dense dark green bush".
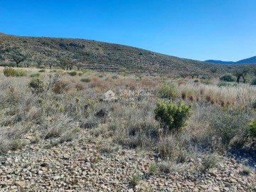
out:
<path id="1" fill-rule="evenodd" d="M 171 99 L 178 97 L 178 91 L 176 85 L 173 84 L 165 84 L 161 85 L 156 90 L 156 97 L 162 98 L 162 99 Z"/>

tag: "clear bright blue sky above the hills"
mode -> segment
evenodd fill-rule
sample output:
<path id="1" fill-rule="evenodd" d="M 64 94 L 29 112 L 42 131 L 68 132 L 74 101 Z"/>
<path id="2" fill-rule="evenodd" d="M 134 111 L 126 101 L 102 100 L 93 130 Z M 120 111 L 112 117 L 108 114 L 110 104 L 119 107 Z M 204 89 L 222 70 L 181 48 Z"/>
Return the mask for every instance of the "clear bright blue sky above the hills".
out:
<path id="1" fill-rule="evenodd" d="M 255 0 L 0 0 L 0 32 L 85 38 L 196 60 L 256 55 Z"/>

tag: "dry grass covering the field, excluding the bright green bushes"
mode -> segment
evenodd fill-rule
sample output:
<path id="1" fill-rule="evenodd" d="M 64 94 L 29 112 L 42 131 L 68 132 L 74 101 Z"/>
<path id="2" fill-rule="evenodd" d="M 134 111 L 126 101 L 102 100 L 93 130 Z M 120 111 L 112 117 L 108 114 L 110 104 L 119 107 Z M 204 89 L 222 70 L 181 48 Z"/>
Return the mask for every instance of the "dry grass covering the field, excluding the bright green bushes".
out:
<path id="1" fill-rule="evenodd" d="M 28 75 L 19 78 L 7 78 L 0 72 L 2 153 L 20 149 L 26 134 L 35 135 L 37 142 L 43 139 L 70 142 L 78 129 L 90 129 L 100 151 L 112 153 L 119 145 L 154 151 L 164 160 L 159 169 L 170 171 L 191 154 L 223 152 L 235 142 L 242 147 L 242 142 L 246 143 L 242 137 L 247 122 L 255 117 L 252 106 L 256 87 L 252 86 L 218 87 L 218 82 L 214 81 L 213 85 L 205 85 L 193 80 L 134 75 L 112 78 L 112 73 L 80 77 L 46 70 L 39 78 L 47 88 L 36 93 L 31 92 L 28 84 L 30 75 L 38 70 L 26 70 Z M 55 73 L 60 74 L 60 78 L 54 80 Z M 89 78 L 90 82 L 81 82 L 81 78 Z M 178 97 L 174 102 L 184 100 L 186 105 L 193 105 L 191 118 L 178 134 L 164 131 L 155 120 L 155 90 L 166 83 L 176 84 Z M 118 101 L 102 101 L 102 95 L 110 89 L 119 97 Z M 152 95 L 141 95 L 139 90 L 152 90 Z M 133 91 L 134 95 L 127 94 L 128 91 Z M 228 119 L 223 118 L 226 116 Z M 239 123 L 235 119 L 239 119 Z M 230 127 L 235 127 L 236 131 L 228 131 L 232 135 L 227 135 Z"/>

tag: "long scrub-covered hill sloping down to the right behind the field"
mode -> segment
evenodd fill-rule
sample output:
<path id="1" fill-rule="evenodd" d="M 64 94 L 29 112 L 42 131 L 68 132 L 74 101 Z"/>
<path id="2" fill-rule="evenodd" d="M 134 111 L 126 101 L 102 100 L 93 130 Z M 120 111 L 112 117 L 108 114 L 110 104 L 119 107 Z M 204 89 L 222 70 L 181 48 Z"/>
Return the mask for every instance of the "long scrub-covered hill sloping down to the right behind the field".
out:
<path id="1" fill-rule="evenodd" d="M 23 58 L 18 65 L 62 68 L 75 65 L 90 70 L 149 75 L 207 75 L 230 70 L 225 65 L 78 38 L 22 37 L 0 33 L 0 54 L 1 65 L 16 62 L 12 63 L 15 65 Z"/>

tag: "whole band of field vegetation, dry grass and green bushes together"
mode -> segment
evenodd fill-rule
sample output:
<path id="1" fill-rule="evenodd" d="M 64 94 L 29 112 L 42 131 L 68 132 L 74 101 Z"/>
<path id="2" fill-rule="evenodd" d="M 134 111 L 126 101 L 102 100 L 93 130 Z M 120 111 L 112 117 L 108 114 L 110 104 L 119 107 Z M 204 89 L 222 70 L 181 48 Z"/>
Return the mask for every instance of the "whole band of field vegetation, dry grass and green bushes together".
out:
<path id="1" fill-rule="evenodd" d="M 100 154 L 115 156 L 121 149 L 146 151 L 151 158 L 154 154 L 142 173 L 127 177 L 131 187 L 142 188 L 144 178 L 161 172 L 186 172 L 193 162 L 197 174 L 207 174 L 218 169 L 219 156 L 230 149 L 255 150 L 254 86 L 219 86 L 218 78 L 211 78 L 209 85 L 202 80 L 113 73 L 99 78 L 92 71 L 81 80 L 64 70 L 26 70 L 28 78 L 0 73 L 2 154 L 44 142 L 45 149 L 73 147 L 86 130 L 97 151 L 90 159 L 92 169 L 100 166 Z M 105 101 L 107 90 L 117 100 Z"/>

